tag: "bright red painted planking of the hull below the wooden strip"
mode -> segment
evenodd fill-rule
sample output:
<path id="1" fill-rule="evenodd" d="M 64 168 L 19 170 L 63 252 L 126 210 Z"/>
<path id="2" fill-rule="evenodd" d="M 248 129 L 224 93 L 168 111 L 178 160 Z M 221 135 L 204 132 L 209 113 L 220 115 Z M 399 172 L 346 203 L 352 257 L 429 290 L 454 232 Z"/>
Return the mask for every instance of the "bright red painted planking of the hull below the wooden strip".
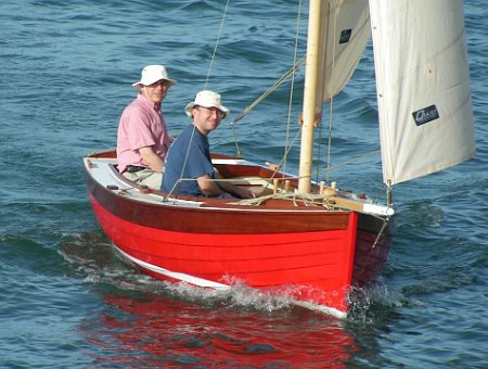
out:
<path id="1" fill-rule="evenodd" d="M 223 284 L 231 277 L 255 288 L 301 287 L 298 293 L 309 290 L 312 294 L 306 296 L 308 302 L 347 310 L 346 294 L 355 253 L 355 213 L 349 215 L 349 228 L 337 231 L 195 234 L 133 225 L 91 200 L 107 237 L 139 260 Z M 154 271 L 151 275 L 168 278 Z"/>

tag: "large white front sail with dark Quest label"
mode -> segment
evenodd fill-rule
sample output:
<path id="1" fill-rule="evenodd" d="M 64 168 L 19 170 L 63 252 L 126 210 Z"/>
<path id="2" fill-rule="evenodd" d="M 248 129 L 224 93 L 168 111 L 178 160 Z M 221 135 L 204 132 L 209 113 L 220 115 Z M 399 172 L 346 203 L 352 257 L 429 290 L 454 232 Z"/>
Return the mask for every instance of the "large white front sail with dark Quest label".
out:
<path id="1" fill-rule="evenodd" d="M 383 177 L 391 184 L 475 154 L 462 0 L 370 0 Z"/>

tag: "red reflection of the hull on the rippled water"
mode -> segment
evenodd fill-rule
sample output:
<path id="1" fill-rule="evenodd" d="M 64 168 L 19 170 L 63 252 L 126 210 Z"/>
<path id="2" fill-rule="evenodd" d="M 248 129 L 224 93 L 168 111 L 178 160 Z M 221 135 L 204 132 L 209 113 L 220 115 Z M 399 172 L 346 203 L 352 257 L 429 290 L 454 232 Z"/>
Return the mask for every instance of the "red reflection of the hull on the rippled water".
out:
<path id="1" fill-rule="evenodd" d="M 160 296 L 104 298 L 113 310 L 82 327 L 102 365 L 342 367 L 355 347 L 341 321 L 300 308 L 267 315 Z"/>

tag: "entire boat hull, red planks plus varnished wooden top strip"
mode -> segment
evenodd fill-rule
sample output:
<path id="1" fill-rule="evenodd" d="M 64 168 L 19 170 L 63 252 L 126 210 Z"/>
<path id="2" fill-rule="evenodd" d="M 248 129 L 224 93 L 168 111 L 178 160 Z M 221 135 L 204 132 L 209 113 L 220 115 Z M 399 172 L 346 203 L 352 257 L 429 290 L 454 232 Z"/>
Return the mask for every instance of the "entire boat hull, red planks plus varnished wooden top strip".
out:
<path id="1" fill-rule="evenodd" d="M 211 202 L 175 207 L 128 199 L 101 186 L 89 169 L 87 178 L 106 236 L 139 268 L 163 280 L 211 288 L 240 281 L 345 315 L 350 287 L 376 278 L 389 250 L 388 238 L 372 247 L 376 234 L 358 231 L 358 219 L 364 221 L 351 211 L 268 204 L 256 212 Z"/>

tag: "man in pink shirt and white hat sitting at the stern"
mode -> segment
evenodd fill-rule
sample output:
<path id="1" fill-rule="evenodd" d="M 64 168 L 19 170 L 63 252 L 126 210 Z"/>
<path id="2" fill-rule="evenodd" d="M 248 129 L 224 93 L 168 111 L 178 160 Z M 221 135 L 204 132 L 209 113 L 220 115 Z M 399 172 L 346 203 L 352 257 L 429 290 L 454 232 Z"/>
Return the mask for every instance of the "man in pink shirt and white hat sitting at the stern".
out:
<path id="1" fill-rule="evenodd" d="M 123 112 L 117 131 L 118 170 L 128 179 L 159 189 L 166 153 L 172 142 L 162 111 L 169 87 L 163 65 L 147 65 L 133 87 L 138 97 Z"/>

